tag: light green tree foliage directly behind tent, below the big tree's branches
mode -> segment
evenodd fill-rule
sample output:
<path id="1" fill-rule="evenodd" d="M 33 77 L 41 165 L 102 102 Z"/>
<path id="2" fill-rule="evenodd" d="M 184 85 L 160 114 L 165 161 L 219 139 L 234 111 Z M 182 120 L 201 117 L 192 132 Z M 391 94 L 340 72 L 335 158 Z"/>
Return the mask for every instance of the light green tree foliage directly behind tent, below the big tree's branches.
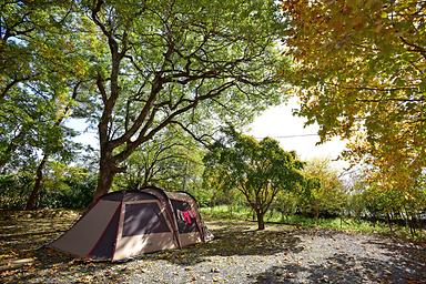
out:
<path id="1" fill-rule="evenodd" d="M 196 195 L 202 182 L 202 155 L 196 141 L 179 126 L 171 125 L 132 153 L 125 163 L 125 173 L 118 176 L 114 186 L 156 185 Z"/>

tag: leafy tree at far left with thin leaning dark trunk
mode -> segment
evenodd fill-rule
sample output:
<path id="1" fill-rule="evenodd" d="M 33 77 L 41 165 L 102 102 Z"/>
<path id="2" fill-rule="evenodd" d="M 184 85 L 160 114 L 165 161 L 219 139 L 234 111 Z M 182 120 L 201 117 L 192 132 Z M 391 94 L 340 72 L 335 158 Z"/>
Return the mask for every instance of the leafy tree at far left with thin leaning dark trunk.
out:
<path id="1" fill-rule="evenodd" d="M 0 170 L 33 163 L 36 209 L 50 159 L 67 160 L 73 132 L 63 126 L 83 89 L 84 58 L 73 1 L 8 1 L 0 13 Z M 27 166 L 28 170 L 28 166 Z"/>

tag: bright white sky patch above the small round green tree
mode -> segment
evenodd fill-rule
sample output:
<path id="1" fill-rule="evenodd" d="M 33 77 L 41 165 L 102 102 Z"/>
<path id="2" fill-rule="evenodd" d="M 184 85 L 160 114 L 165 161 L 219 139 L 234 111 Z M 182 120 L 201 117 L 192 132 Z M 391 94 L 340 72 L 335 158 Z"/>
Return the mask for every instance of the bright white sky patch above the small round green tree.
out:
<path id="1" fill-rule="evenodd" d="M 284 150 L 296 151 L 302 160 L 337 159 L 345 149 L 345 142 L 333 139 L 324 144 L 315 145 L 320 141 L 320 136 L 312 134 L 317 133 L 318 125 L 313 124 L 304 128 L 306 120 L 293 116 L 293 109 L 297 109 L 295 100 L 291 100 L 287 104 L 270 108 L 254 120 L 246 134 L 258 139 L 270 136 L 278 140 Z M 344 161 L 337 161 L 332 162 L 332 165 L 337 170 L 343 170 L 348 164 Z"/>

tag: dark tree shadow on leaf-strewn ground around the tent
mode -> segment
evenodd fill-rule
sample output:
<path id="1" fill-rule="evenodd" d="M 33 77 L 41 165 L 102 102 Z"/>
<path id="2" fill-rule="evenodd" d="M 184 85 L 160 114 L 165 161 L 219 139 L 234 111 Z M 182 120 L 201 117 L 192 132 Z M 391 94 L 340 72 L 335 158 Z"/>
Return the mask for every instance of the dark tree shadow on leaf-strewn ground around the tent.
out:
<path id="1" fill-rule="evenodd" d="M 11 258 L 30 257 L 34 261 L 18 270 L 3 272 L 3 283 L 30 283 L 54 280 L 61 274 L 70 282 L 113 282 L 125 271 L 132 260 L 124 263 L 87 262 L 42 247 L 65 231 L 75 215 L 16 216 L 0 220 L 0 265 Z M 215 239 L 209 243 L 182 250 L 162 251 L 141 255 L 134 260 L 164 260 L 176 265 L 192 265 L 207 261 L 209 256 L 272 255 L 300 252 L 301 232 L 294 230 L 256 231 L 255 224 L 246 222 L 210 222 Z M 4 231 L 3 231 L 4 229 Z M 102 278 L 99 278 L 102 275 Z"/>

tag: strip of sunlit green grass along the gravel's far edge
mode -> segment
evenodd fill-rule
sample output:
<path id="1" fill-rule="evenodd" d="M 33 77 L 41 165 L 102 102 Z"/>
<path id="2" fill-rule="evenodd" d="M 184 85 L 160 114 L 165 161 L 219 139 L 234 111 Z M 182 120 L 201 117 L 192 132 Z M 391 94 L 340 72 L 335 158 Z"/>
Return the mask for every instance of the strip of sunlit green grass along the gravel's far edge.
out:
<path id="1" fill-rule="evenodd" d="M 219 205 L 214 207 L 202 207 L 201 213 L 206 220 L 244 220 L 253 221 L 253 211 L 247 206 L 233 206 Z M 328 230 L 338 230 L 344 232 L 356 232 L 365 234 L 382 234 L 388 236 L 396 236 L 405 240 L 426 241 L 426 232 L 423 230 L 417 235 L 412 235 L 409 229 L 405 226 L 394 225 L 393 230 L 383 222 L 369 222 L 353 217 L 347 219 L 312 219 L 300 215 L 288 215 L 282 220 L 278 212 L 267 212 L 265 215 L 266 223 L 282 223 L 286 225 L 294 225 L 301 227 L 318 227 Z"/>

